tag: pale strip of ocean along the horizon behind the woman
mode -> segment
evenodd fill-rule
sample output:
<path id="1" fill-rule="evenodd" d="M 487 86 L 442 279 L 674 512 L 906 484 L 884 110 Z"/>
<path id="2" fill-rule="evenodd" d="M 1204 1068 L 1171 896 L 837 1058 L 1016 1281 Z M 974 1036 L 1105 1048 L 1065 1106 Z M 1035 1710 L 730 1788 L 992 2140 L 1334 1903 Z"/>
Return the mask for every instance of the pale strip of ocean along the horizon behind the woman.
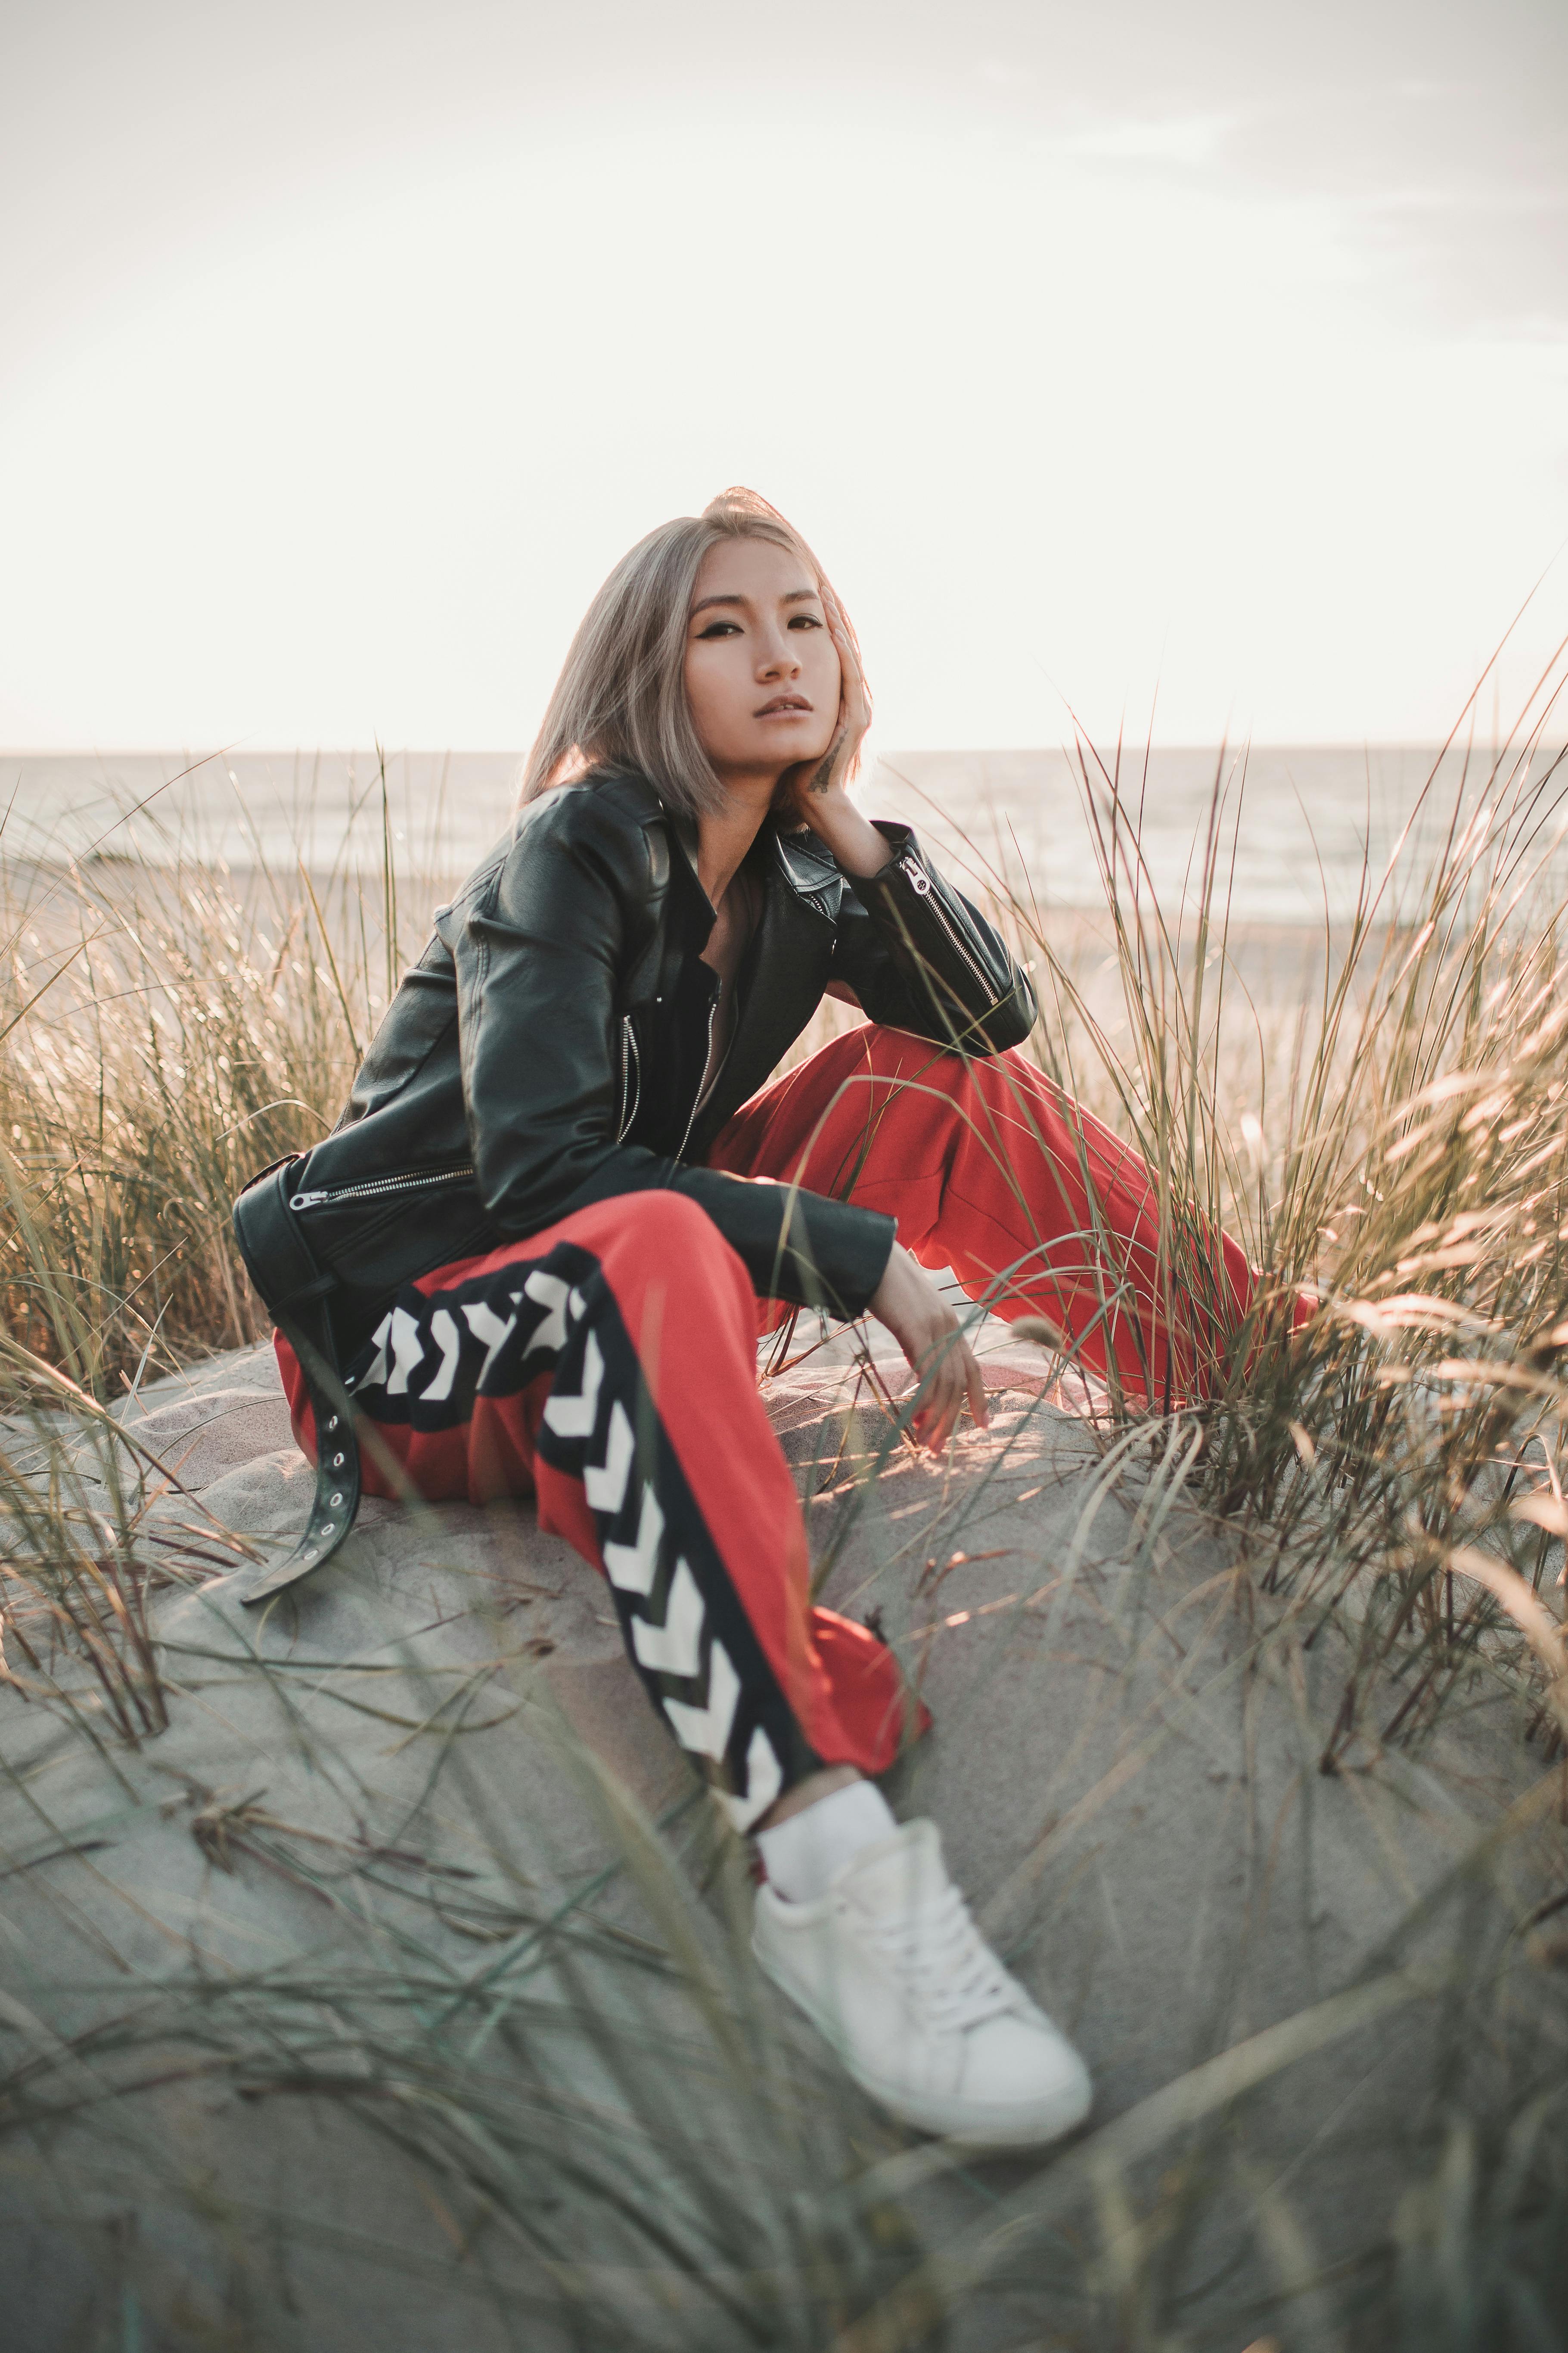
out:
<path id="1" fill-rule="evenodd" d="M 505 826 L 520 753 L 0 753 L 0 847 L 12 861 L 181 856 L 247 868 L 266 859 L 313 873 L 336 861 L 374 871 L 383 800 L 400 866 L 463 875 Z M 1103 753 L 1110 769 L 1114 753 Z M 1138 816 L 1152 896 L 1175 911 L 1201 871 L 1220 793 L 1232 918 L 1340 922 L 1363 864 L 1382 875 L 1401 845 L 1415 873 L 1455 809 L 1535 793 L 1537 847 L 1561 838 L 1568 762 L 1537 751 L 1253 746 L 1246 753 L 1159 746 L 1121 755 L 1121 802 Z M 1105 774 L 1091 762 L 1100 807 Z M 1041 908 L 1103 906 L 1095 835 L 1074 760 L 1063 751 L 884 753 L 860 786 L 867 816 L 903 816 L 950 864 L 1027 871 Z M 1556 852 L 1561 856 L 1561 852 Z"/>

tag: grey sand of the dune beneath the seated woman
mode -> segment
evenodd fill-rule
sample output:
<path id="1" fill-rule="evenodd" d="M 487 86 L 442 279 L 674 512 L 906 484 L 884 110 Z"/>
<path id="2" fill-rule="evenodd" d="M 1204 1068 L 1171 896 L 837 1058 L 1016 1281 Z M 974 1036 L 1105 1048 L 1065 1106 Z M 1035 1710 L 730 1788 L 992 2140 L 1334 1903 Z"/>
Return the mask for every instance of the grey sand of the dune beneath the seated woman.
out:
<path id="1" fill-rule="evenodd" d="M 1192 2344 L 1260 2332 L 1237 2315 L 1276 2292 L 1281 2247 L 1354 2280 L 1389 2228 L 1389 2151 L 1436 2097 L 1443 2014 L 1420 1969 L 1462 1939 L 1502 1951 L 1568 1861 L 1512 1704 L 1479 1697 L 1422 1758 L 1361 1744 L 1326 1779 L 1342 1638 L 1305 1647 L 1309 1621 L 1258 1591 L 1225 1529 L 1159 1478 L 1110 1475 L 1091 1400 L 997 1327 L 992 1433 L 933 1466 L 844 1353 L 769 1388 L 823 1598 L 879 1612 L 933 1708 L 889 1795 L 940 1824 L 983 1925 L 1086 2052 L 1077 2144 L 1046 2174 L 900 2158 L 929 2144 L 846 2094 L 748 1969 L 743 1875 L 597 1574 L 527 1504 L 371 1501 L 261 1621 L 233 1577 L 160 1598 L 172 1722 L 139 1751 L 0 1692 L 0 2049 L 54 2115 L 0 2141 L 7 2353 L 120 2346 L 127 2294 L 146 2344 L 820 2344 L 785 2327 L 790 2233 L 818 2245 L 799 2217 L 867 2162 L 903 2214 L 884 2285 L 917 2233 L 957 2353 L 1124 2341 L 1095 2231 L 1114 2184 L 1143 2198 L 1182 2151 L 1208 2280 Z M 268 1351 L 143 1405 L 139 1435 L 207 1511 L 259 1541 L 299 1527 L 310 1475 Z M 190 1497 L 158 1511 L 193 1518 Z M 616 1868 L 628 1849 L 642 1864 Z M 614 2052 L 583 2002 L 616 2021 Z M 454 2014 L 482 2052 L 456 2073 Z M 1208 2125 L 1182 2127 L 1204 2099 L 1166 2087 L 1269 2028 L 1291 2064 L 1237 2111 L 1204 2078 Z M 1180 2111 L 1164 2125 L 1161 2094 Z M 665 2242 L 595 2198 L 628 2174 Z M 731 2193 L 773 2217 L 741 2233 L 745 2259 Z M 1060 2233 L 1009 2238 L 1025 2212 Z"/>

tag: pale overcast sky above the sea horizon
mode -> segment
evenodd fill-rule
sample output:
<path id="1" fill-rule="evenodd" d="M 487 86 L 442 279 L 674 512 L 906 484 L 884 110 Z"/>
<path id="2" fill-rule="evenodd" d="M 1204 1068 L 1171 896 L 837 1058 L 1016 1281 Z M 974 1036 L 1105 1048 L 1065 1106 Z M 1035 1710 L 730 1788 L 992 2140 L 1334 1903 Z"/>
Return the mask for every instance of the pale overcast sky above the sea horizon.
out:
<path id="1" fill-rule="evenodd" d="M 1441 736 L 1568 536 L 1566 120 L 1563 0 L 9 0 L 0 741 L 522 746 L 731 480 L 884 746 Z"/>

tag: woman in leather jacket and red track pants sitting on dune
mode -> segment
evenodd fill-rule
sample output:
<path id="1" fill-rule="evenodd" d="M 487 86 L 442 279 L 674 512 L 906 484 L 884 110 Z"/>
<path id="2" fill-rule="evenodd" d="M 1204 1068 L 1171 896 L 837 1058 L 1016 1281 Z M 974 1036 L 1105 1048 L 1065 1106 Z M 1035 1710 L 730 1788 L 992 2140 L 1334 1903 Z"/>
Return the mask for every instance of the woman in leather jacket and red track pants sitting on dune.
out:
<path id="1" fill-rule="evenodd" d="M 1220 1240 L 1215 1301 L 1171 1332 L 1147 1169 L 1013 1052 L 1034 995 L 997 932 L 849 800 L 867 720 L 849 621 L 755 494 L 611 572 L 520 814 L 437 911 L 343 1120 L 237 1205 L 320 1464 L 308 1539 L 256 1591 L 346 1534 L 355 1431 L 371 1492 L 536 1494 L 757 1840 L 769 1974 L 896 2115 L 1037 2144 L 1088 2075 L 936 1828 L 898 1828 L 870 1779 L 905 1692 L 872 1633 L 809 1607 L 757 1332 L 870 1311 L 940 1454 L 985 1388 L 922 1261 L 1140 1393 L 1201 1386 L 1251 1278 Z M 867 1026 L 766 1085 L 823 993 Z"/>

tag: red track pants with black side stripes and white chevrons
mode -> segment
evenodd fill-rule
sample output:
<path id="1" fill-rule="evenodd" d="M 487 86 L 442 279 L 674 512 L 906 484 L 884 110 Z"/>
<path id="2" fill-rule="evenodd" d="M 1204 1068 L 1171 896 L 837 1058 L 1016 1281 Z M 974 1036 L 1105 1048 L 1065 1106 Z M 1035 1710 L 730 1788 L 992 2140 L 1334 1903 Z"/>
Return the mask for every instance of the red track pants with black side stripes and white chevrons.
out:
<path id="1" fill-rule="evenodd" d="M 712 1167 L 853 1195 L 994 1313 L 1048 1315 L 1138 1395 L 1204 1393 L 1253 1297 L 1208 1235 L 1206 1297 L 1159 1289 L 1150 1172 L 1023 1054 L 863 1026 L 752 1096 Z M 738 1828 L 820 1765 L 884 1772 L 917 1725 L 893 1654 L 809 1605 L 806 1529 L 757 1395 L 757 1301 L 679 1193 L 625 1193 L 400 1292 L 346 1381 L 430 1501 L 536 1494 L 604 1569 L 628 1652 Z M 299 1365 L 277 1339 L 315 1459 Z M 369 1494 L 386 1494 L 364 1464 Z"/>

